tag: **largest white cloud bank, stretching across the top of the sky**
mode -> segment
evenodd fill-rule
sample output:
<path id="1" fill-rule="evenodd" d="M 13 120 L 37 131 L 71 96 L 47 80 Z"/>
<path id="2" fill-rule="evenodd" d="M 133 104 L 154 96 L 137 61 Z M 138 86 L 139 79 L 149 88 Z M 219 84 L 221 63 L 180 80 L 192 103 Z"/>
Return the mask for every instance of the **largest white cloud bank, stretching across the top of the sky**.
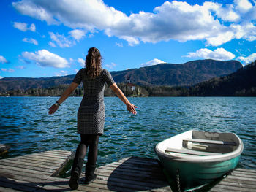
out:
<path id="1" fill-rule="evenodd" d="M 45 20 L 48 24 L 63 23 L 91 33 L 104 31 L 108 37 L 124 39 L 131 46 L 141 41 L 170 39 L 180 42 L 206 40 L 207 45 L 219 46 L 232 39 L 256 39 L 255 24 L 252 24 L 256 19 L 256 5 L 248 0 L 235 0 L 230 4 L 205 2 L 203 5 L 165 1 L 153 12 L 141 11 L 131 15 L 109 7 L 102 0 L 22 0 L 12 2 L 12 6 L 21 14 Z M 243 30 L 244 26 L 249 31 Z M 70 34 L 78 41 L 83 33 L 75 30 Z M 69 42 L 64 42 L 60 45 L 70 46 Z"/>

